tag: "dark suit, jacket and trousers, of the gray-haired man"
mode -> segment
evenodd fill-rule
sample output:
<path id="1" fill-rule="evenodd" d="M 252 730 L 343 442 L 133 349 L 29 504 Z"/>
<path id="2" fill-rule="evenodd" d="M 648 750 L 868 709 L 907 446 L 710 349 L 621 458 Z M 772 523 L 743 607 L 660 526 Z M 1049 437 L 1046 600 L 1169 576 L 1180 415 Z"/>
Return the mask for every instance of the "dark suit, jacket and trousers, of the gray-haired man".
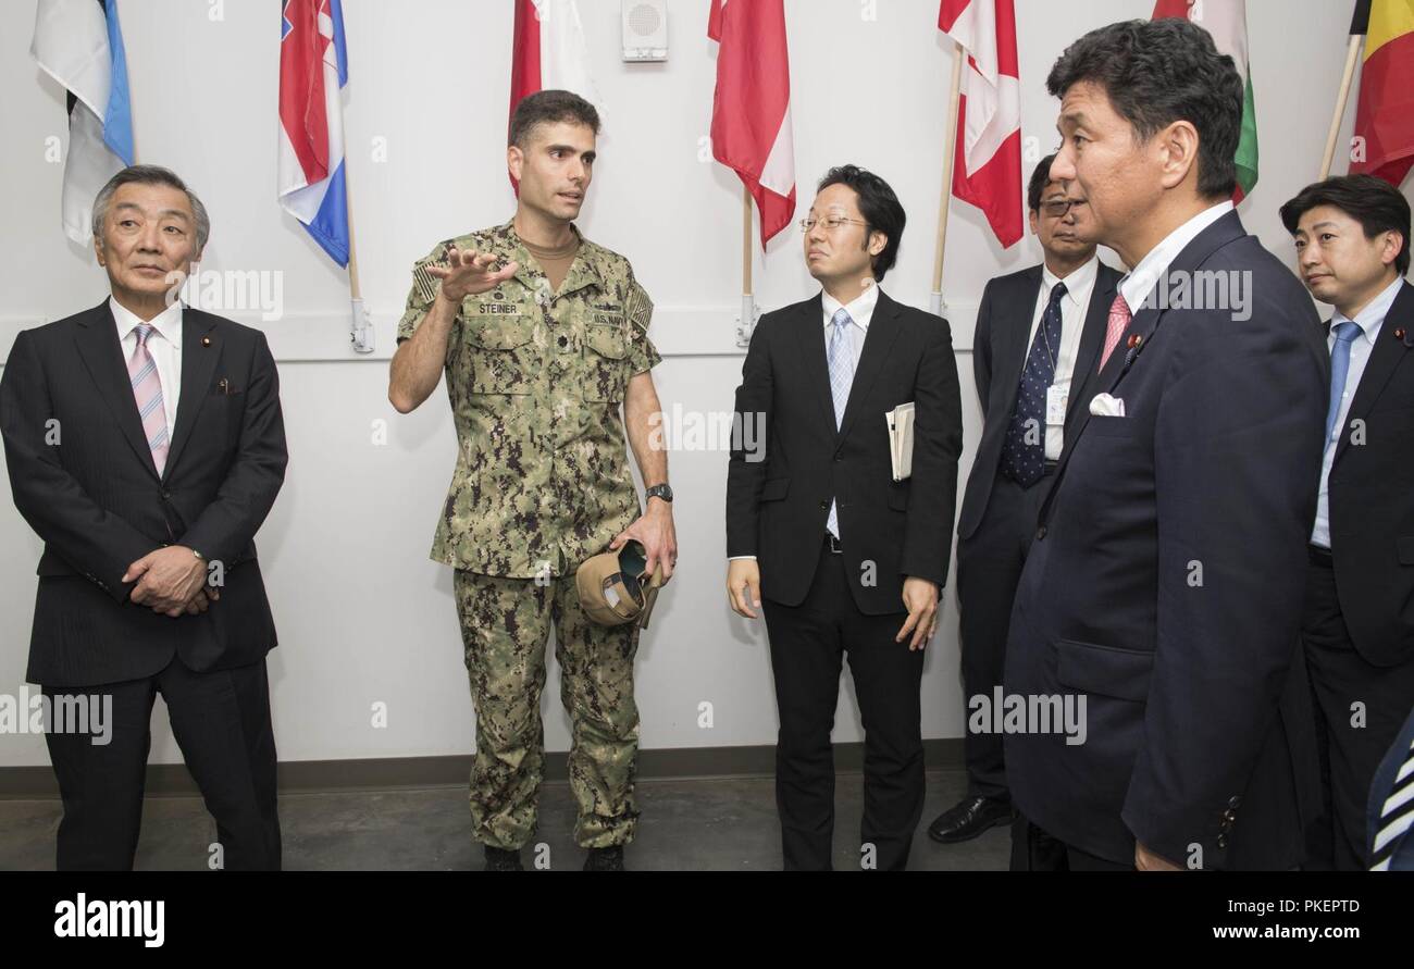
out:
<path id="1" fill-rule="evenodd" d="M 61 869 L 132 867 L 157 693 L 225 867 L 280 864 L 264 669 L 276 632 L 253 536 L 284 480 L 286 444 L 263 334 L 182 311 L 171 430 L 158 475 L 106 300 L 16 338 L 0 433 L 16 508 L 44 539 L 28 678 L 51 696 L 110 696 L 115 720 L 106 745 L 47 734 L 64 796 Z M 129 600 L 127 566 L 167 545 L 221 564 L 206 613 L 173 618 Z"/>

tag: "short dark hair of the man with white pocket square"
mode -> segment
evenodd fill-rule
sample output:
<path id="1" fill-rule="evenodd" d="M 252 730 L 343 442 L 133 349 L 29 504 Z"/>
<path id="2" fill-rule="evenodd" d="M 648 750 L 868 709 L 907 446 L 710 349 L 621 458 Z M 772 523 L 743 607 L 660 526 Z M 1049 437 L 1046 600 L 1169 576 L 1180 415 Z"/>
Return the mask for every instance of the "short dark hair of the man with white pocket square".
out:
<path id="1" fill-rule="evenodd" d="M 1246 85 L 1206 30 L 1178 17 L 1092 30 L 1056 59 L 1046 91 L 1063 98 L 1082 81 L 1102 86 L 1141 140 L 1174 122 L 1191 122 L 1198 129 L 1198 194 L 1233 194 Z"/>

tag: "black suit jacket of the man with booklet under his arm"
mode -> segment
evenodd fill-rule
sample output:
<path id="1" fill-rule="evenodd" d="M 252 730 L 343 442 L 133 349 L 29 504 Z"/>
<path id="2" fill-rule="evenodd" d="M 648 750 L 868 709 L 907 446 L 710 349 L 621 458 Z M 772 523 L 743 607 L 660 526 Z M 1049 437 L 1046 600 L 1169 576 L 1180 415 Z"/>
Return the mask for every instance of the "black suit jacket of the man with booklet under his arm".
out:
<path id="1" fill-rule="evenodd" d="M 761 594 L 799 605 L 810 588 L 830 499 L 861 613 L 899 613 L 905 576 L 947 581 L 962 402 L 947 321 L 882 290 L 839 431 L 822 297 L 761 317 L 737 388 L 737 420 L 764 453 L 734 436 L 727 472 L 727 555 L 756 556 Z M 885 414 L 915 405 L 912 477 L 894 481 Z M 762 460 L 764 458 L 764 460 Z"/>

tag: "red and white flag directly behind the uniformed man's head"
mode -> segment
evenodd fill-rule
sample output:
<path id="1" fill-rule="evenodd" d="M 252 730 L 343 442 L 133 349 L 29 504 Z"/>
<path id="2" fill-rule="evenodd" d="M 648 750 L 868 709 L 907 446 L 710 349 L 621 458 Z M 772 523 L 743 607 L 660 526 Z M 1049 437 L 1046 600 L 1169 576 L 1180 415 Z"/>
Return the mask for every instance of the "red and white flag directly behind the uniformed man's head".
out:
<path id="1" fill-rule="evenodd" d="M 510 50 L 510 113 L 506 130 L 522 98 L 537 91 L 573 91 L 594 105 L 604 105 L 590 75 L 590 50 L 574 0 L 515 0 L 516 27 Z M 515 185 L 516 180 L 512 178 Z"/>

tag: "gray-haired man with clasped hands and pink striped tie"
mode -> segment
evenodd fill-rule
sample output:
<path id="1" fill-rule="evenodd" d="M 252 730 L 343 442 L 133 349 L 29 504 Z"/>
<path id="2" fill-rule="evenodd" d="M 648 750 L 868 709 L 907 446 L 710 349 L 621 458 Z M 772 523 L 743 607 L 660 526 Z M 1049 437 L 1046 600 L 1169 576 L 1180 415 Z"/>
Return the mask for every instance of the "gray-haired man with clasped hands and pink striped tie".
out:
<path id="1" fill-rule="evenodd" d="M 93 204 L 112 297 L 21 332 L 0 379 L 14 504 L 44 539 L 27 678 L 55 710 L 109 714 L 102 740 L 47 734 L 61 870 L 132 869 L 157 693 L 216 819 L 204 860 L 280 867 L 276 634 L 252 536 L 284 424 L 264 337 L 171 298 L 208 231 L 175 174 L 120 171 Z"/>

